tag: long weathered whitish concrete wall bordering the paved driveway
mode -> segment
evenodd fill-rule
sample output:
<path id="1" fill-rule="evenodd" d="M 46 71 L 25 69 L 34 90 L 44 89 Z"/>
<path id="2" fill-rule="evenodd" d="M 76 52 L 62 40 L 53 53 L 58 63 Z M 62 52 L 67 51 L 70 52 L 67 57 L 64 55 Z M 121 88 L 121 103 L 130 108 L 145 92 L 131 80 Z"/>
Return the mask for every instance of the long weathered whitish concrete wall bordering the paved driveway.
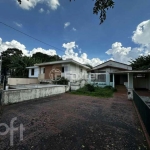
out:
<path id="1" fill-rule="evenodd" d="M 2 92 L 2 105 L 17 103 L 26 100 L 44 98 L 51 95 L 65 93 L 69 90 L 68 86 L 50 86 L 42 88 L 15 89 Z"/>

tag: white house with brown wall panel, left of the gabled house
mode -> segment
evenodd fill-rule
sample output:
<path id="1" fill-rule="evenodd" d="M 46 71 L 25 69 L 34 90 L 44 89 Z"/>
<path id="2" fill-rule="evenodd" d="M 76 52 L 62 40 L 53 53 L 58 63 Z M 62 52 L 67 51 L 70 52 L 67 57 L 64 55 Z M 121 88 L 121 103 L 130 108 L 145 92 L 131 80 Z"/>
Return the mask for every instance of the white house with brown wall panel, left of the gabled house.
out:
<path id="1" fill-rule="evenodd" d="M 29 78 L 37 77 L 41 82 L 57 80 L 60 77 L 76 82 L 88 79 L 88 72 L 90 72 L 89 67 L 73 59 L 40 63 L 27 68 Z"/>

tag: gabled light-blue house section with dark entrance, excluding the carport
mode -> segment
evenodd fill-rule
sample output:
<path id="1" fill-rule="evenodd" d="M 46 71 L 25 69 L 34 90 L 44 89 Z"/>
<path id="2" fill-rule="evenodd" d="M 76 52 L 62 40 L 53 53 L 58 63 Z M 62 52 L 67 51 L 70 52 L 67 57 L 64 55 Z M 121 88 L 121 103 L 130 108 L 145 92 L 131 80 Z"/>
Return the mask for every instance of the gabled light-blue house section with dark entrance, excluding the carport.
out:
<path id="1" fill-rule="evenodd" d="M 132 70 L 130 65 L 109 60 L 98 66 L 95 66 L 91 70 L 91 78 L 89 79 L 89 82 L 100 86 L 111 85 L 113 87 L 115 87 L 115 84 L 126 84 L 127 75 L 114 75 L 114 72 L 129 70 Z"/>

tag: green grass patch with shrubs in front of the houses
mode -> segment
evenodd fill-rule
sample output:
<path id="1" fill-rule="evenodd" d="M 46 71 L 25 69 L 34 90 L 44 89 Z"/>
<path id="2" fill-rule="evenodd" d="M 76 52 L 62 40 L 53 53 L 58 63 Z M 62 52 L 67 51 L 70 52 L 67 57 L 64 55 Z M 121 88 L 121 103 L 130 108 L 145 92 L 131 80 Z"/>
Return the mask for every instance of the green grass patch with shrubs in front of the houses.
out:
<path id="1" fill-rule="evenodd" d="M 83 88 L 80 88 L 76 91 L 72 91 L 72 94 L 76 95 L 87 95 L 94 97 L 112 97 L 113 93 L 116 91 L 112 86 L 106 87 L 95 87 L 94 85 L 87 84 Z"/>

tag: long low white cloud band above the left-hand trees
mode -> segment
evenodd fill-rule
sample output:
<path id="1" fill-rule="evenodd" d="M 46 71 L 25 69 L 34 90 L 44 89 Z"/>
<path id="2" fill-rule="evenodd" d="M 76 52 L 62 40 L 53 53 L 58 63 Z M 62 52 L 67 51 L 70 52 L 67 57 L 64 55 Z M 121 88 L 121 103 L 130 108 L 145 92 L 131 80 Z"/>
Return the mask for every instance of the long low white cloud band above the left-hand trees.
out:
<path id="1" fill-rule="evenodd" d="M 54 49 L 46 50 L 43 48 L 34 48 L 33 50 L 29 51 L 26 49 L 25 45 L 21 44 L 16 40 L 12 40 L 11 42 L 3 42 L 2 39 L 0 38 L 0 53 L 6 51 L 8 48 L 17 48 L 19 50 L 22 50 L 22 53 L 26 56 L 32 56 L 36 52 L 41 52 L 51 56 L 57 55 Z"/>

